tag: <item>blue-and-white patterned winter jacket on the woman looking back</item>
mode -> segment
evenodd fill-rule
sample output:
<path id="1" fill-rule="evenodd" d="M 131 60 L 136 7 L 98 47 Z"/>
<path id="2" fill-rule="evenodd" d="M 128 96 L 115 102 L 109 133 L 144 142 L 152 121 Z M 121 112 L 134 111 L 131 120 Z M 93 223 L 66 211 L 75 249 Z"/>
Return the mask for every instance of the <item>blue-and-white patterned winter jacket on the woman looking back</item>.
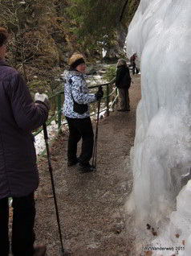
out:
<path id="1" fill-rule="evenodd" d="M 64 103 L 63 114 L 67 118 L 87 118 L 90 116 L 89 103 L 96 100 L 95 93 L 88 93 L 85 75 L 76 70 L 65 70 L 64 78 Z M 74 101 L 79 104 L 87 104 L 88 109 L 84 114 L 78 114 L 73 111 Z"/>

